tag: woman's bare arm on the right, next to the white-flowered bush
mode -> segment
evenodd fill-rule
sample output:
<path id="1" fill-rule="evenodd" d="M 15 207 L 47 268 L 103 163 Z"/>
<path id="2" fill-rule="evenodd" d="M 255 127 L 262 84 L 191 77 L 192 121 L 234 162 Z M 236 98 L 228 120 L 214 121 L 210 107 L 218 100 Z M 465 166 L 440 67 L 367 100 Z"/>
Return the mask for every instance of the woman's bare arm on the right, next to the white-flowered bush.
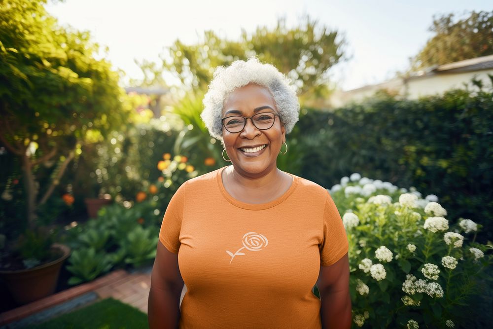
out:
<path id="1" fill-rule="evenodd" d="M 351 328 L 348 254 L 330 266 L 320 266 L 317 281 L 323 329 Z"/>

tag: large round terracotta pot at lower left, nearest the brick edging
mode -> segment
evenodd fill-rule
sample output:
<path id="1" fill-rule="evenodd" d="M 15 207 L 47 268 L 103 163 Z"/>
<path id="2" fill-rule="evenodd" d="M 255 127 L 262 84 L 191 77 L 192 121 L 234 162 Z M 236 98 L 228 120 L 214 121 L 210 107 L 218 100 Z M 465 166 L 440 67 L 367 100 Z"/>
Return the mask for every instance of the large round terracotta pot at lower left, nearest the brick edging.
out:
<path id="1" fill-rule="evenodd" d="M 63 256 L 33 268 L 0 271 L 0 276 L 18 304 L 27 304 L 55 292 L 60 269 L 65 259 L 70 256 L 70 248 L 57 243 L 54 243 L 52 248 L 61 250 Z"/>

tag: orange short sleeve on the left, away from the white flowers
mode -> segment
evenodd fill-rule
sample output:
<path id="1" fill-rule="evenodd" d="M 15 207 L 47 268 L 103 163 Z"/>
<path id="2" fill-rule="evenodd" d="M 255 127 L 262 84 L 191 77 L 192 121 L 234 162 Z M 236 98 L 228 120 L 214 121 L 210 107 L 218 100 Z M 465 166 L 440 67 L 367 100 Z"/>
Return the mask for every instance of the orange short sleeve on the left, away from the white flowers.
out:
<path id="1" fill-rule="evenodd" d="M 183 219 L 185 183 L 183 183 L 171 198 L 168 208 L 164 213 L 159 241 L 174 254 L 178 254 L 180 248 L 181 220 Z"/>

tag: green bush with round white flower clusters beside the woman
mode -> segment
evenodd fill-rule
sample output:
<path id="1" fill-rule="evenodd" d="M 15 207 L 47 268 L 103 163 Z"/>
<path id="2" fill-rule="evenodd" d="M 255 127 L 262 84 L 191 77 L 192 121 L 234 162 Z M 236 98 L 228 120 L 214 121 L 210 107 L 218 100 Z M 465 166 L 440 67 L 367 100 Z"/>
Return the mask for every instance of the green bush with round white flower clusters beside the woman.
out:
<path id="1" fill-rule="evenodd" d="M 344 177 L 330 193 L 350 244 L 353 326 L 453 328 L 492 264 L 471 219 L 446 219 L 438 197 Z M 472 237 L 471 235 L 474 234 Z M 491 273 L 491 271 L 490 271 Z"/>

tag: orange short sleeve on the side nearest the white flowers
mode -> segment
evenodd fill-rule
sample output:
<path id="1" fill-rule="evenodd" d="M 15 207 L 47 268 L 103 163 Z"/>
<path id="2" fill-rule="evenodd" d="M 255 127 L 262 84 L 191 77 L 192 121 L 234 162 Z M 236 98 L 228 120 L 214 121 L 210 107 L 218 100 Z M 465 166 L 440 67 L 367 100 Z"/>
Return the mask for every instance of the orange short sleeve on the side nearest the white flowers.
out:
<path id="1" fill-rule="evenodd" d="M 323 241 L 319 248 L 322 266 L 334 264 L 349 250 L 348 237 L 341 215 L 328 192 L 323 212 Z"/>

